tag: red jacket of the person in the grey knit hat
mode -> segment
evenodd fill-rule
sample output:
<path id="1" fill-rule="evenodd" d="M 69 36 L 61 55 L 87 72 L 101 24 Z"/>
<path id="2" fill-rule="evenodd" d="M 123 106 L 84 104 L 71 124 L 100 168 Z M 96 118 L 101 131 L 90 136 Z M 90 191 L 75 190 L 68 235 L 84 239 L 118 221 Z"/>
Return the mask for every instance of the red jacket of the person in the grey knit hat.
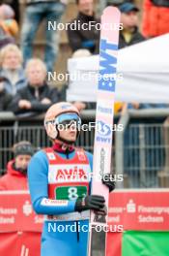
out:
<path id="1" fill-rule="evenodd" d="M 14 160 L 7 165 L 7 174 L 0 177 L 0 190 L 28 190 L 27 176 L 14 170 Z"/>

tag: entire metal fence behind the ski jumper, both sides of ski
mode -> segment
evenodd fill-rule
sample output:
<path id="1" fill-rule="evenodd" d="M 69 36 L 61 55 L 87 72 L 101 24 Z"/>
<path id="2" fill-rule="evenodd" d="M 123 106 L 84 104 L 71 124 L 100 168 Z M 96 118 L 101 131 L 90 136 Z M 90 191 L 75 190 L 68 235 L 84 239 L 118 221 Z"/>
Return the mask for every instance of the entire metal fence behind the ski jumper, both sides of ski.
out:
<path id="1" fill-rule="evenodd" d="M 123 187 L 168 187 L 169 186 L 169 109 L 129 111 L 116 116 L 115 123 L 123 125 L 123 131 L 114 133 L 112 145 L 112 169 L 123 175 Z M 13 115 L 0 115 L 0 172 L 13 158 L 11 148 L 21 140 L 30 141 L 36 149 L 48 146 L 42 125 L 42 116 L 19 119 Z M 95 112 L 82 114 L 83 123 L 95 120 Z M 81 131 L 77 145 L 93 152 L 95 129 Z"/>

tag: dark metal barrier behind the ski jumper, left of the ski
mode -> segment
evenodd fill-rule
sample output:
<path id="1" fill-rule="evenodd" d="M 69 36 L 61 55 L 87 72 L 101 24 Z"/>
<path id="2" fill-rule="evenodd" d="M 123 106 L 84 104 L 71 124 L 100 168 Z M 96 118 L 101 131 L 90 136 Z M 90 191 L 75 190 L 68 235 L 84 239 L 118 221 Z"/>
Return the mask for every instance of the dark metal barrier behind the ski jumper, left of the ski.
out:
<path id="1" fill-rule="evenodd" d="M 42 115 L 14 116 L 12 112 L 0 112 L 0 175 L 5 173 L 8 161 L 13 159 L 12 147 L 15 143 L 29 141 L 34 145 L 35 150 L 51 145 L 46 137 L 42 120 Z M 95 121 L 95 112 L 83 112 L 83 123 L 88 123 L 89 120 Z M 94 127 L 91 127 L 90 132 L 81 131 L 76 144 L 93 152 L 94 133 Z"/>

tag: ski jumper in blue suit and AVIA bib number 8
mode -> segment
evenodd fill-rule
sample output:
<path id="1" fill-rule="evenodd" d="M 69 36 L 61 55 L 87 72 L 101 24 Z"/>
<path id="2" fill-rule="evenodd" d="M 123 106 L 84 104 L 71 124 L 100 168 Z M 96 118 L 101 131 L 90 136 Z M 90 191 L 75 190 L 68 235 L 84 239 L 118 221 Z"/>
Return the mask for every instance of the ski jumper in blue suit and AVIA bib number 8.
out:
<path id="1" fill-rule="evenodd" d="M 74 145 L 80 124 L 72 104 L 52 105 L 44 116 L 52 147 L 37 152 L 28 167 L 33 208 L 46 215 L 41 256 L 87 256 L 90 210 L 106 214 L 104 197 L 91 195 L 93 156 Z M 102 182 L 114 189 L 110 176 Z"/>

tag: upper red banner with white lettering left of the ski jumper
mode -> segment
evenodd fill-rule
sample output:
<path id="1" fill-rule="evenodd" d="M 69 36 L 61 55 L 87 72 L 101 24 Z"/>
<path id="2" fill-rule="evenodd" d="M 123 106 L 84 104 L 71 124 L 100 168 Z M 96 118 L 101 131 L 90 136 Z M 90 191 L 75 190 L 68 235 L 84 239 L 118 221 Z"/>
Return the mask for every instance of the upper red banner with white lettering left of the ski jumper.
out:
<path id="1" fill-rule="evenodd" d="M 42 232 L 43 216 L 37 215 L 27 191 L 0 192 L 0 232 Z"/>

